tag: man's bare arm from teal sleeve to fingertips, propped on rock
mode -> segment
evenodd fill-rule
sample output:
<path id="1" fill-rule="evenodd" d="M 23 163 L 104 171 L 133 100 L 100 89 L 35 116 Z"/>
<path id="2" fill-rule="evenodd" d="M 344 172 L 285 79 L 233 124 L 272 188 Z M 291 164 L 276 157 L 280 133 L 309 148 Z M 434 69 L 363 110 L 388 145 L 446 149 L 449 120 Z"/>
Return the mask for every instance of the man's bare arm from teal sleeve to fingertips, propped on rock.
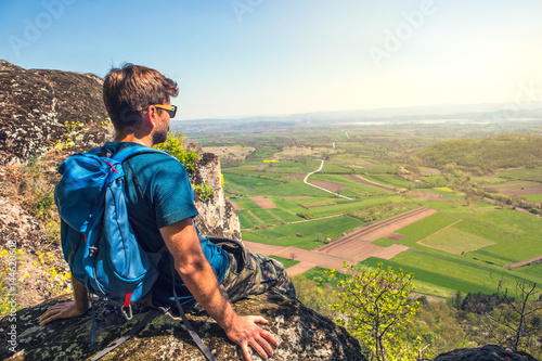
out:
<path id="1" fill-rule="evenodd" d="M 247 361 L 248 346 L 263 359 L 273 354 L 271 345 L 278 340 L 256 323 L 267 323 L 261 317 L 240 317 L 223 297 L 211 266 L 205 258 L 191 218 L 160 229 L 162 236 L 175 259 L 175 268 L 202 307 L 224 330 L 228 337 L 241 346 Z"/>

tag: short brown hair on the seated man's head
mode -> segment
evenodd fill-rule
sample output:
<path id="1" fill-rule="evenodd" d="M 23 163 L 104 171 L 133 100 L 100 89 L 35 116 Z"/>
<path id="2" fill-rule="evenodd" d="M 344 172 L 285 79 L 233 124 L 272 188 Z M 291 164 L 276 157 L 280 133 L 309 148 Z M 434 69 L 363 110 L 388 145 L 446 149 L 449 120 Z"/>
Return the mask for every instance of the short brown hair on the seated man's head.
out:
<path id="1" fill-rule="evenodd" d="M 125 64 L 112 68 L 103 83 L 103 101 L 117 131 L 138 127 L 140 109 L 151 104 L 164 104 L 177 96 L 177 82 L 146 66 Z"/>

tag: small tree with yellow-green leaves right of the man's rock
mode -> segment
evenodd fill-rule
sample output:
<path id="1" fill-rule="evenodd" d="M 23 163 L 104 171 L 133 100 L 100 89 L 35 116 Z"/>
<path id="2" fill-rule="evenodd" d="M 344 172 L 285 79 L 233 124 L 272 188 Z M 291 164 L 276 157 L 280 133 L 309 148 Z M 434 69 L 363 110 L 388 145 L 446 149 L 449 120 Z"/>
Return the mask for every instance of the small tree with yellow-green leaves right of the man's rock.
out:
<path id="1" fill-rule="evenodd" d="M 384 269 L 382 262 L 375 270 L 369 267 L 365 272 L 344 265 L 347 273 L 338 282 L 343 291 L 336 292 L 343 301 L 332 308 L 346 319 L 337 323 L 363 343 L 371 360 L 416 359 L 417 350 L 408 350 L 397 337 L 412 322 L 421 305 L 409 299 L 415 288 L 411 281 L 413 274 L 401 269 L 396 273 L 391 267 Z M 328 275 L 335 279 L 337 271 L 331 270 Z"/>

